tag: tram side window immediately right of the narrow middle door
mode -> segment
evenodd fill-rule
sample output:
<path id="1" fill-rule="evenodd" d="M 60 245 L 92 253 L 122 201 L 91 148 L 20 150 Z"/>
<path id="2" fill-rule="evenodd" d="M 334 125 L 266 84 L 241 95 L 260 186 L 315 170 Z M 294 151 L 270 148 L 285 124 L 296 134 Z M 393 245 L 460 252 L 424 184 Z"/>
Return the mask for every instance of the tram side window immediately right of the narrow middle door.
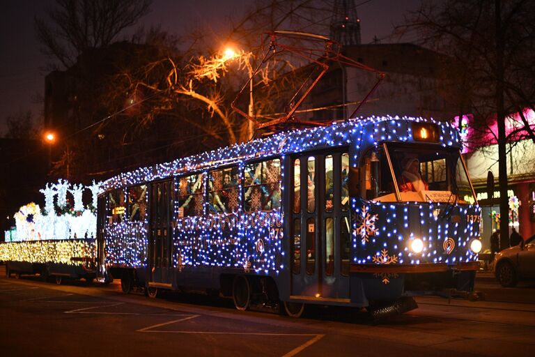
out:
<path id="1" fill-rule="evenodd" d="M 203 196 L 203 174 L 181 177 L 178 183 L 178 218 L 203 215 Z"/>

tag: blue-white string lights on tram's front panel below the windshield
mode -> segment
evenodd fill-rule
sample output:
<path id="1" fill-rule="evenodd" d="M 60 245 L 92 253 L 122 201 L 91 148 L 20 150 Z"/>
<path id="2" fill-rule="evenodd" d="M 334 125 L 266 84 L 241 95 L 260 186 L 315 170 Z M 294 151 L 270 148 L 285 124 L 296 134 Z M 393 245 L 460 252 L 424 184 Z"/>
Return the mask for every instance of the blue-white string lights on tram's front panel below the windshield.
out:
<path id="1" fill-rule="evenodd" d="M 352 199 L 352 211 L 356 216 L 352 223 L 354 263 L 377 264 L 377 257 L 381 257 L 385 249 L 390 254 L 395 252 L 398 264 L 456 264 L 478 259 L 478 255 L 468 248 L 470 241 L 479 237 L 479 222 L 466 219 L 450 222 L 449 218 L 479 215 L 479 206 L 419 202 L 382 204 Z M 376 220 L 368 222 L 374 228 L 373 235 L 366 236 L 368 239 L 362 236 L 362 230 L 366 231 L 366 227 L 362 227 L 366 223 L 362 223 L 363 216 L 376 217 Z M 414 219 L 419 219 L 419 224 L 410 225 L 410 220 Z M 382 226 L 378 226 L 377 222 L 381 222 Z M 424 250 L 419 254 L 409 249 L 414 238 L 424 241 Z M 454 247 L 444 244 L 445 241 L 453 242 Z"/>

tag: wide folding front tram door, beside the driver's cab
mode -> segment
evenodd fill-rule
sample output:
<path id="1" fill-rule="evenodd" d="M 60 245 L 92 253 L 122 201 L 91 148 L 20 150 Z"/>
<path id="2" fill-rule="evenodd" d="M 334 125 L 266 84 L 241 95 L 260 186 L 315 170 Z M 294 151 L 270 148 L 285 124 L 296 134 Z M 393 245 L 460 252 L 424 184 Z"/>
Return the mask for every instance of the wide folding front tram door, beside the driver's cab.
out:
<path id="1" fill-rule="evenodd" d="M 344 152 L 293 158 L 292 296 L 350 298 L 348 167 Z"/>

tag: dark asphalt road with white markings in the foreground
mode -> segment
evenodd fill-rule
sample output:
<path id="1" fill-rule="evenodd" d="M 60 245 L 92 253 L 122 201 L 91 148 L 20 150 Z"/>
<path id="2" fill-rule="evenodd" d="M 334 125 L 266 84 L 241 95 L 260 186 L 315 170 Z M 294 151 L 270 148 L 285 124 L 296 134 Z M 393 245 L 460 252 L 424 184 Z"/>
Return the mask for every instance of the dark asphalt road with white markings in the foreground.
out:
<path id="1" fill-rule="evenodd" d="M 150 299 L 124 295 L 116 284 L 7 279 L 3 267 L 0 277 L 1 356 L 531 356 L 535 351 L 535 287 L 529 284 L 503 289 L 480 279 L 476 289 L 487 301 L 418 298 L 417 310 L 371 322 L 350 309 L 313 308 L 302 319 L 290 319 L 239 312 L 231 301 L 208 296 Z"/>

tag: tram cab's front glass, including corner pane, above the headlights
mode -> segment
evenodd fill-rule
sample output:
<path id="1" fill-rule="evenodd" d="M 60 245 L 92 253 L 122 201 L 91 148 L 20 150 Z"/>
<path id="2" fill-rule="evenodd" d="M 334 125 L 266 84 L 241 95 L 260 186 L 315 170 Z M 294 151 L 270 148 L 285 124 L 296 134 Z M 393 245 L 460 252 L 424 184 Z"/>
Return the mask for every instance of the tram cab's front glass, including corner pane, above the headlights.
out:
<path id="1" fill-rule="evenodd" d="M 459 149 L 378 146 L 364 156 L 361 172 L 366 199 L 396 202 L 397 186 L 402 202 L 475 203 Z"/>

